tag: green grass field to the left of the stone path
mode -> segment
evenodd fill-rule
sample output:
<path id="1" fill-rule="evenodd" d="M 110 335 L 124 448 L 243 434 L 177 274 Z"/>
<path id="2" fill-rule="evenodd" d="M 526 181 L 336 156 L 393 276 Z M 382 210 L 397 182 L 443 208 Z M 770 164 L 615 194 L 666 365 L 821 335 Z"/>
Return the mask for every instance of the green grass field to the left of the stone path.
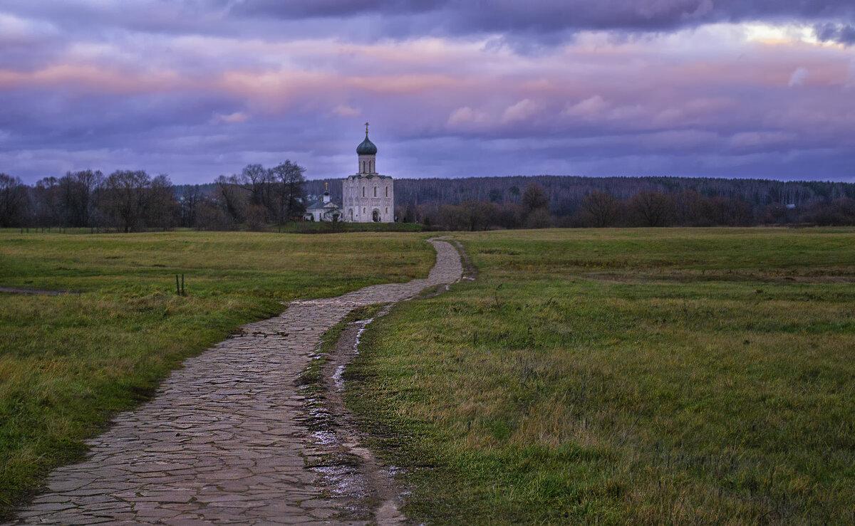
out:
<path id="1" fill-rule="evenodd" d="M 0 232 L 0 286 L 80 291 L 0 293 L 0 517 L 182 359 L 280 301 L 426 276 L 425 237 Z"/>

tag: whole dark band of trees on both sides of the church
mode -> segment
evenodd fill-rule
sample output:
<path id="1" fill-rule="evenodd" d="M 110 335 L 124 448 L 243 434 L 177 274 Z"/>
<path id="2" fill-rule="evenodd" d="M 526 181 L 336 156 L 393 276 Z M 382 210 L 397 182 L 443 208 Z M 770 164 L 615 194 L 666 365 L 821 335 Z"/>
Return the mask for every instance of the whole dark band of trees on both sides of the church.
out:
<path id="1" fill-rule="evenodd" d="M 285 161 L 209 184 L 85 170 L 36 184 L 0 173 L 0 227 L 265 230 L 303 218 L 325 183 Z M 724 178 L 516 176 L 395 179 L 400 222 L 441 230 L 603 226 L 855 225 L 855 184 Z"/>

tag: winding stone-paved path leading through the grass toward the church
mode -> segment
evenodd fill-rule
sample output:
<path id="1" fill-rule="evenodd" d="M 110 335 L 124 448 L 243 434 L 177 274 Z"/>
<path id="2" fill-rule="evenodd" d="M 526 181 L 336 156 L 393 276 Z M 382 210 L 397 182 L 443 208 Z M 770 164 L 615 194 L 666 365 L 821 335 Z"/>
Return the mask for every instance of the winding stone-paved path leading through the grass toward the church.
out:
<path id="1" fill-rule="evenodd" d="M 294 301 L 186 360 L 154 400 L 91 440 L 84 462 L 54 471 L 49 492 L 13 524 L 346 523 L 304 468 L 311 442 L 294 380 L 321 334 L 353 308 L 457 281 L 457 251 L 431 243 L 437 262 L 427 279 Z"/>

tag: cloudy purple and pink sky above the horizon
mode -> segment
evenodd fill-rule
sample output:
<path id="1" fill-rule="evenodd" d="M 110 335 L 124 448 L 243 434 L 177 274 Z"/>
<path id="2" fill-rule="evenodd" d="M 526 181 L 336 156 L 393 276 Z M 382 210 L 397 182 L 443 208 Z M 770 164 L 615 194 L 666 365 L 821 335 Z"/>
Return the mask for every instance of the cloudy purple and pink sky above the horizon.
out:
<path id="1" fill-rule="evenodd" d="M 855 182 L 853 0 L 3 0 L 0 172 Z"/>

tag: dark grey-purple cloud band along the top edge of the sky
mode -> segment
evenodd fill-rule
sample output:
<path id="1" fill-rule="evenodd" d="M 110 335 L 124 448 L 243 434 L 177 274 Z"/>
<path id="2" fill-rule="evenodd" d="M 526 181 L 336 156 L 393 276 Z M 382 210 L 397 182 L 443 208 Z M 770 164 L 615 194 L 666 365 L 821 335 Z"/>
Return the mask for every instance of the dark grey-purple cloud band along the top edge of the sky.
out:
<path id="1" fill-rule="evenodd" d="M 848 42 L 855 24 L 852 0 L 5 0 L 2 9 L 80 33 L 111 26 L 163 34 L 365 41 L 498 33 L 535 44 L 558 43 L 587 30 L 669 32 L 742 21 L 814 23 L 823 38 Z M 298 23 L 283 32 L 281 24 L 287 22 Z"/>

